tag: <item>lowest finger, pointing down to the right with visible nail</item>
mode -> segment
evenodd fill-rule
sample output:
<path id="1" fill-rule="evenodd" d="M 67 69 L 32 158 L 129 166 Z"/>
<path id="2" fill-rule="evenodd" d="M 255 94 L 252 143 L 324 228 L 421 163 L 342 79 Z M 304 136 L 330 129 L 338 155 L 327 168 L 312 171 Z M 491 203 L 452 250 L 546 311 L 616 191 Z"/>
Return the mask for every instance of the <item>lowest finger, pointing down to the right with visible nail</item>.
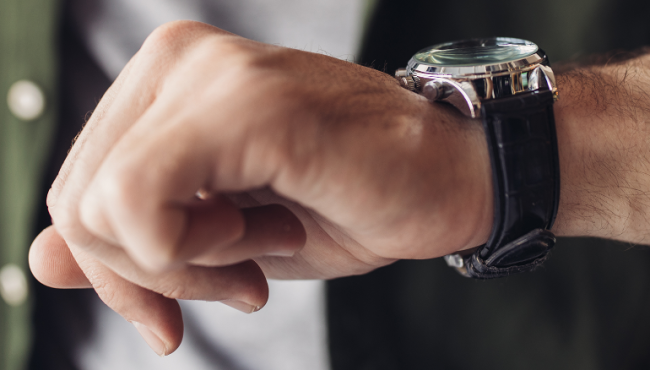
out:
<path id="1" fill-rule="evenodd" d="M 183 318 L 175 299 L 130 283 L 82 250 L 72 250 L 99 298 L 132 323 L 151 349 L 167 356 L 178 348 Z"/>

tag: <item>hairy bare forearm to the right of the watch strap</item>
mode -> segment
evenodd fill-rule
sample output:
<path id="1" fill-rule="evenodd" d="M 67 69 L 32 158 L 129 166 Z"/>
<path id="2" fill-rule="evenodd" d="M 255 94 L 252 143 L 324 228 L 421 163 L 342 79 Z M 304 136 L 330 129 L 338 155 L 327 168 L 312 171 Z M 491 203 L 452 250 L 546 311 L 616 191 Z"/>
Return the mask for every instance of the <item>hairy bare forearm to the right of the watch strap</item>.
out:
<path id="1" fill-rule="evenodd" d="M 650 56 L 558 75 L 554 231 L 650 242 Z"/>

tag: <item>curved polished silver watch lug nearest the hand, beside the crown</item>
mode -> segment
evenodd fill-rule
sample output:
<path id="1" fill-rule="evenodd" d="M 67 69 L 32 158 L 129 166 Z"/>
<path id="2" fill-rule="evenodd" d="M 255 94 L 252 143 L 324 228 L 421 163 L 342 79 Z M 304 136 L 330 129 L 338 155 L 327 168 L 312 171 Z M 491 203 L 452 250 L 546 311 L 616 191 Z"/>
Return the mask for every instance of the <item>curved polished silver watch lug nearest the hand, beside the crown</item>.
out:
<path id="1" fill-rule="evenodd" d="M 474 85 L 470 81 L 453 81 L 446 78 L 439 78 L 432 81 L 429 81 L 425 85 L 433 87 L 435 86 L 438 91 L 443 91 L 443 93 L 437 94 L 438 101 L 447 102 L 461 113 L 468 117 L 478 118 L 481 114 L 481 100 L 476 94 Z M 426 90 L 425 90 L 426 91 Z"/>

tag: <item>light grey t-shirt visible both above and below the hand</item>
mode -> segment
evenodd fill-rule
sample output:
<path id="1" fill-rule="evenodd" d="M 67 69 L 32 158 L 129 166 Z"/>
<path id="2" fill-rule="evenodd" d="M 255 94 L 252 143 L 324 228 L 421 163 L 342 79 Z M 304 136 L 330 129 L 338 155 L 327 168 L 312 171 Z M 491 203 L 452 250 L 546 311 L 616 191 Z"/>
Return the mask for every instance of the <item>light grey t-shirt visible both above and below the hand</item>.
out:
<path id="1" fill-rule="evenodd" d="M 115 78 L 157 26 L 178 19 L 297 49 L 353 60 L 364 0 L 72 0 L 86 47 Z M 181 347 L 161 359 L 135 328 L 101 302 L 90 340 L 77 348 L 82 369 L 329 369 L 324 283 L 271 281 L 270 300 L 245 315 L 220 303 L 181 302 Z"/>

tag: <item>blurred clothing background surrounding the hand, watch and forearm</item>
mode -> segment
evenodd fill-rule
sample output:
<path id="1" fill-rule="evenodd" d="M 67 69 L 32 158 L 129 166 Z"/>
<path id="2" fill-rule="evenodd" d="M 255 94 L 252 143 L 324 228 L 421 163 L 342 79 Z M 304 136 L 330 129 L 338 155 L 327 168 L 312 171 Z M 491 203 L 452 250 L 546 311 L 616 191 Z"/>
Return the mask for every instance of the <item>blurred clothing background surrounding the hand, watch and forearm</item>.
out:
<path id="1" fill-rule="evenodd" d="M 0 108 L 0 369 L 650 368 L 645 246 L 561 239 L 540 271 L 494 281 L 430 260 L 271 282 L 250 316 L 183 302 L 185 340 L 165 359 L 94 292 L 46 288 L 26 267 L 72 139 L 160 24 L 194 19 L 393 73 L 470 37 L 529 39 L 556 65 L 633 50 L 649 44 L 648 14 L 639 0 L 0 0 L 0 89 L 29 81 L 25 99 L 45 101 L 28 117 Z"/>

